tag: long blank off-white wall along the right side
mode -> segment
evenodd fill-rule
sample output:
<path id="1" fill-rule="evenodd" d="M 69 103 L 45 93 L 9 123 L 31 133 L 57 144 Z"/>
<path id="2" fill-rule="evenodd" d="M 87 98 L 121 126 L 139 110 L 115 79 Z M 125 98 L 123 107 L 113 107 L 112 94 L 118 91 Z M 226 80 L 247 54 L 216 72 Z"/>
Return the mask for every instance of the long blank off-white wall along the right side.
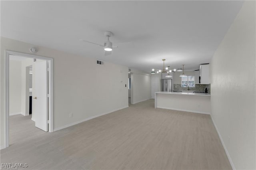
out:
<path id="1" fill-rule="evenodd" d="M 211 116 L 233 168 L 256 169 L 255 1 L 245 1 L 211 60 Z"/>

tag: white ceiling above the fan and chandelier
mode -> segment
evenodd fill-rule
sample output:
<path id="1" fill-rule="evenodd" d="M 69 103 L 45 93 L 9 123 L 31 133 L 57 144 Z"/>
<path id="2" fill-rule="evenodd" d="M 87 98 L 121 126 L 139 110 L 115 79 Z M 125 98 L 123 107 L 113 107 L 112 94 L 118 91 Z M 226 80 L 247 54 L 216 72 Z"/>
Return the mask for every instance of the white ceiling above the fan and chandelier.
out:
<path id="1" fill-rule="evenodd" d="M 209 63 L 242 1 L 1 1 L 1 36 L 150 72 Z M 97 45 L 111 31 L 112 55 Z"/>

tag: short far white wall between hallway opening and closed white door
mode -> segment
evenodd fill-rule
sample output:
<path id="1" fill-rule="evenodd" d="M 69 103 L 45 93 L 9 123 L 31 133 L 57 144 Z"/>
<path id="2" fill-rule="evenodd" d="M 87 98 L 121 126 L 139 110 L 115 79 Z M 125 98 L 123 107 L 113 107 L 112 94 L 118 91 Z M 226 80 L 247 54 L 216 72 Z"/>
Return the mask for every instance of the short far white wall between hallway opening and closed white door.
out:
<path id="1" fill-rule="evenodd" d="M 151 75 L 143 71 L 132 69 L 131 103 L 151 99 Z"/>

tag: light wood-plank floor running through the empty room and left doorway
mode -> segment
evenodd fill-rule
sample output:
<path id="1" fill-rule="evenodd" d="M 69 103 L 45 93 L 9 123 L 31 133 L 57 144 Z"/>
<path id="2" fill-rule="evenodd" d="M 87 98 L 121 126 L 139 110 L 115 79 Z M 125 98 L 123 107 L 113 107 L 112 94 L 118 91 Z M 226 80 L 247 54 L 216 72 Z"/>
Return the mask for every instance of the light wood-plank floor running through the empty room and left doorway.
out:
<path id="1" fill-rule="evenodd" d="M 232 169 L 210 115 L 154 109 L 150 99 L 48 133 L 10 117 L 1 163 L 25 169 Z"/>

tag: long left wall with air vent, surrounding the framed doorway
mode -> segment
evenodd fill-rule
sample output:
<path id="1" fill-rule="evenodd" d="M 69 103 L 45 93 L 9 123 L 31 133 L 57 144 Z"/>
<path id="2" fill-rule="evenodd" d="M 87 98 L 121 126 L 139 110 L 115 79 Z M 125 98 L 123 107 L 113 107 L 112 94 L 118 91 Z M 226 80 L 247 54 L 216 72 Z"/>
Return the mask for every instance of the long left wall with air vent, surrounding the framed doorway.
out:
<path id="1" fill-rule="evenodd" d="M 29 53 L 30 47 L 38 48 L 36 55 L 54 58 L 54 129 L 128 107 L 128 67 L 108 62 L 98 65 L 89 56 L 1 37 L 1 147 L 5 141 L 5 50 Z"/>

